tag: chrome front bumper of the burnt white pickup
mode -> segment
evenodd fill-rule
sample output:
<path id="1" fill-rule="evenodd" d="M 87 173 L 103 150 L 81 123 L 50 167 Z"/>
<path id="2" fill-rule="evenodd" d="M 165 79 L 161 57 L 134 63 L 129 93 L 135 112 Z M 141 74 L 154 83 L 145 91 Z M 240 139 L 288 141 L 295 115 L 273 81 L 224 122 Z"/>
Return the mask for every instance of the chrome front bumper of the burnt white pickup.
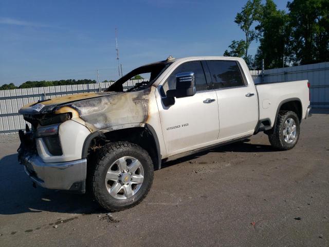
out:
<path id="1" fill-rule="evenodd" d="M 20 157 L 20 162 L 32 181 L 41 187 L 85 192 L 86 158 L 69 162 L 44 163 L 37 154 L 24 153 Z"/>

